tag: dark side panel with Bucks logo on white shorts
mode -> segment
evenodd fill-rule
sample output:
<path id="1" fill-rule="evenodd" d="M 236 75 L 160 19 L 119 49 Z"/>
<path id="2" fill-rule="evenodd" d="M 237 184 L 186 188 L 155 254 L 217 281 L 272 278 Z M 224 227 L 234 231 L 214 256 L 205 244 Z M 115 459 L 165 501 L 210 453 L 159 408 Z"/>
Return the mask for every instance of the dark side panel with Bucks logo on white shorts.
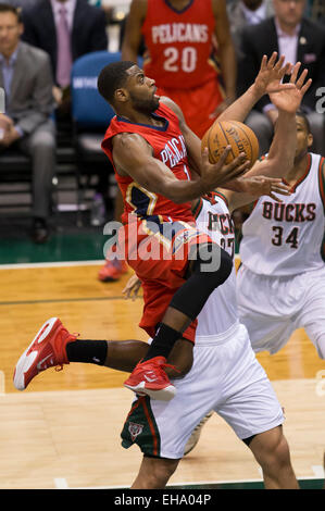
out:
<path id="1" fill-rule="evenodd" d="M 134 402 L 124 423 L 121 438 L 125 449 L 137 444 L 145 454 L 160 454 L 160 434 L 148 396 Z"/>

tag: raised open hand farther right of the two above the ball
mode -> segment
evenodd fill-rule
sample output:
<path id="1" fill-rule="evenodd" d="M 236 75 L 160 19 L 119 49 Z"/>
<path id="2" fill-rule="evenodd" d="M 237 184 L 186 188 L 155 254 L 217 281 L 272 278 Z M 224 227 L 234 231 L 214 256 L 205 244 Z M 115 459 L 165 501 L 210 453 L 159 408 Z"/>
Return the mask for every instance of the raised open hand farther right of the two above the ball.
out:
<path id="1" fill-rule="evenodd" d="M 292 68 L 290 84 L 295 85 L 295 87 L 270 94 L 271 101 L 278 110 L 287 113 L 297 112 L 304 94 L 310 88 L 312 79 L 307 79 L 308 70 L 303 70 L 298 77 L 301 62 L 297 62 Z"/>

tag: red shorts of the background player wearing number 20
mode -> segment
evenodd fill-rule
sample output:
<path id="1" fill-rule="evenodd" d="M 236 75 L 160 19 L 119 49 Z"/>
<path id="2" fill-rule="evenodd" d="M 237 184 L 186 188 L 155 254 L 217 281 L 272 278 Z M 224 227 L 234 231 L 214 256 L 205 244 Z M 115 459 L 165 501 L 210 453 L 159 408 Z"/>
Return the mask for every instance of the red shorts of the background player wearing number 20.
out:
<path id="1" fill-rule="evenodd" d="M 182 109 L 186 123 L 192 132 L 202 138 L 214 123 L 215 109 L 224 100 L 217 78 L 205 82 L 193 89 L 158 88 L 159 96 L 167 96 Z"/>

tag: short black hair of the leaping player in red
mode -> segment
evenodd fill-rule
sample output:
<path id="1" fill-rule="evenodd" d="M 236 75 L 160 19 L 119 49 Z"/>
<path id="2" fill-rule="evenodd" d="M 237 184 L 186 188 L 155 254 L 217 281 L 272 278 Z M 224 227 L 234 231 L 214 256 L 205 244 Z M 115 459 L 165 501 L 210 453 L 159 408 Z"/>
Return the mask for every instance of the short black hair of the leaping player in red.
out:
<path id="1" fill-rule="evenodd" d="M 113 104 L 115 90 L 125 85 L 128 78 L 126 71 L 134 65 L 137 64 L 130 61 L 118 61 L 112 62 L 101 70 L 97 79 L 97 88 L 109 103 Z"/>

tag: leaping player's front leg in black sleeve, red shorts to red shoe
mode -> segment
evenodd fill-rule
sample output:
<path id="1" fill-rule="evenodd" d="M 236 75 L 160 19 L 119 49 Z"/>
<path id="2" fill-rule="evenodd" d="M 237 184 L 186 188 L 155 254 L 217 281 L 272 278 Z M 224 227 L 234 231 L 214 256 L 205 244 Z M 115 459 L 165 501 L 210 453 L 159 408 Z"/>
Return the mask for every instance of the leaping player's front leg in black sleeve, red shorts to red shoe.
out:
<path id="1" fill-rule="evenodd" d="M 160 309 L 160 319 L 151 323 L 154 326 L 159 323 L 159 328 L 152 336 L 152 344 L 145 359 L 135 367 L 124 385 L 136 394 L 170 400 L 175 395 L 175 387 L 164 372 L 166 360 L 175 342 L 183 336 L 186 337 L 185 331 L 193 324 L 212 291 L 228 278 L 233 260 L 225 250 L 212 242 L 208 235 L 188 224 L 164 223 L 160 227 L 165 227 L 164 239 L 170 236 L 166 254 L 170 257 L 148 262 L 147 259 L 141 260 L 138 254 L 134 259 L 129 257 L 128 261 L 142 282 L 145 309 L 147 301 L 151 300 L 150 292 L 145 292 L 148 282 L 153 281 L 163 289 L 168 286 L 173 292 L 168 300 L 165 300 L 163 309 Z M 147 232 L 148 228 L 148 239 Z M 160 230 L 157 234 L 161 236 Z M 151 242 L 153 241 L 154 239 Z M 177 257 L 179 247 L 184 248 L 182 257 Z M 190 340 L 193 341 L 195 331 L 192 334 Z M 183 364 L 183 373 L 185 366 L 190 367 L 191 363 Z"/>

